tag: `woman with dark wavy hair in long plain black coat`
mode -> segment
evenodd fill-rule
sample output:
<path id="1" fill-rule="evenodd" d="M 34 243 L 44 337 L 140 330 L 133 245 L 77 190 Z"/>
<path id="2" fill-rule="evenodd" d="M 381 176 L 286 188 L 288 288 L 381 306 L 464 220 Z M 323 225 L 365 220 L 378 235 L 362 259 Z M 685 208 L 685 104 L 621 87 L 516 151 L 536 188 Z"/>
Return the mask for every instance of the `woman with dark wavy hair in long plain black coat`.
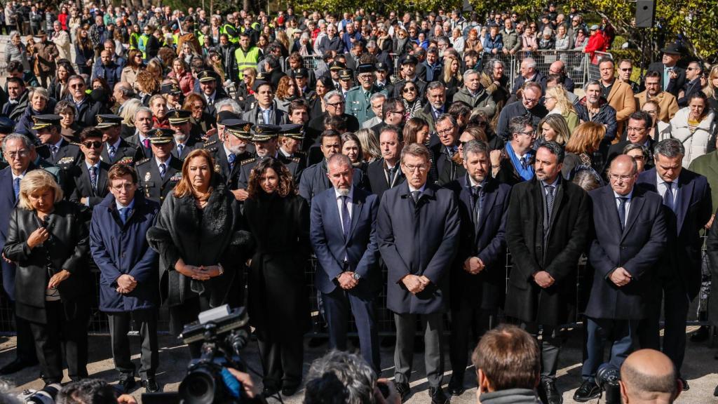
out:
<path id="1" fill-rule="evenodd" d="M 304 267 L 309 257 L 309 206 L 289 170 L 266 158 L 253 168 L 244 202 L 256 251 L 251 260 L 249 320 L 264 364 L 264 395 L 292 395 L 302 381 L 302 336 L 309 326 Z"/>

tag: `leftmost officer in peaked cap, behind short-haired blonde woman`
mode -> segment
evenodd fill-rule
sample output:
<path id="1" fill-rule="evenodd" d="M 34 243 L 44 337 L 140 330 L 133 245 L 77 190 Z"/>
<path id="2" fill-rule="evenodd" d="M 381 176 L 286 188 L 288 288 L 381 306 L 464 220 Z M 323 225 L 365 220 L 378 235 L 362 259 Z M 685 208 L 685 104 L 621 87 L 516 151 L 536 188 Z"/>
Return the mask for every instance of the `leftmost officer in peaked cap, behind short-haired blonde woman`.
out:
<path id="1" fill-rule="evenodd" d="M 62 170 L 70 170 L 82 159 L 80 146 L 67 142 L 60 134 L 60 115 L 46 114 L 32 117 L 32 129 L 37 131 L 37 138 L 42 143 L 37 147 L 37 154 L 43 159 L 59 166 Z"/>

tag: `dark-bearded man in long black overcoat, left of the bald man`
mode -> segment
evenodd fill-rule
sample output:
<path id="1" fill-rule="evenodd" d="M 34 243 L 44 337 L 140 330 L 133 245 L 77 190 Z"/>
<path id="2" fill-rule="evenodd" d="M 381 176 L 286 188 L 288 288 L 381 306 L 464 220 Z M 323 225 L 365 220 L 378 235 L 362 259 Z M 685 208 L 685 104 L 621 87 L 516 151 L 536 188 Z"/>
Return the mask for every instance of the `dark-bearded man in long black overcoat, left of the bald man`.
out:
<path id="1" fill-rule="evenodd" d="M 589 198 L 582 188 L 561 178 L 564 149 L 545 142 L 536 152 L 536 175 L 514 185 L 508 207 L 506 244 L 513 268 L 505 313 L 521 321 L 541 341 L 544 403 L 561 403 L 556 367 L 561 336 L 557 326 L 572 321 L 576 275 L 589 232 Z M 503 170 L 503 168 L 502 168 Z"/>

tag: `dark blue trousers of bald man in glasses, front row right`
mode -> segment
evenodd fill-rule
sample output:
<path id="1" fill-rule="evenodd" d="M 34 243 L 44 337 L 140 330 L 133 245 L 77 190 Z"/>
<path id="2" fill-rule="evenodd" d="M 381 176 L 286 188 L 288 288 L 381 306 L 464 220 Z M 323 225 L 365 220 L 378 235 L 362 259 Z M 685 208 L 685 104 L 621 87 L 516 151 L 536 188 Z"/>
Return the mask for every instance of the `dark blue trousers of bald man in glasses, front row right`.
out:
<path id="1" fill-rule="evenodd" d="M 633 352 L 637 340 L 639 320 L 614 320 L 612 318 L 586 318 L 586 352 L 581 376 L 595 382 L 596 371 L 603 363 L 603 348 L 611 344 L 608 363 L 620 369 L 626 357 Z"/>

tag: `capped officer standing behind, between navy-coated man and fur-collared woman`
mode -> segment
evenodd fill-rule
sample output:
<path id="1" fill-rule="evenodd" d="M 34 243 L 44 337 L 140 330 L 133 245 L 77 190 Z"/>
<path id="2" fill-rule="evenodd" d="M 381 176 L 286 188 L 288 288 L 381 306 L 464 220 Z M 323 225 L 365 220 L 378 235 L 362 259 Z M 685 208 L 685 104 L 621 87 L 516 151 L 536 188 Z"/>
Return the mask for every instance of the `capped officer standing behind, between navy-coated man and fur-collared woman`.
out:
<path id="1" fill-rule="evenodd" d="M 172 129 L 154 128 L 148 134 L 152 157 L 137 162 L 139 189 L 145 198 L 162 203 L 182 178 L 182 162 L 172 157 Z"/>

